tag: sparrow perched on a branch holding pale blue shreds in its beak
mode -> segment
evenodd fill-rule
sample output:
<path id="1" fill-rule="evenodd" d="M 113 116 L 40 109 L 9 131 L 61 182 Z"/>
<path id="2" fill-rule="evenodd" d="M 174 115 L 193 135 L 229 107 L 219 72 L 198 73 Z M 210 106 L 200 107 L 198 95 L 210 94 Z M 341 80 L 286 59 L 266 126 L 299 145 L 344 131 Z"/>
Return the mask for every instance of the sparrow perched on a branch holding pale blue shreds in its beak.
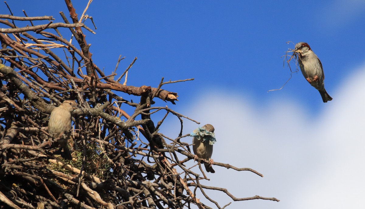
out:
<path id="1" fill-rule="evenodd" d="M 215 173 L 212 168 L 213 159 L 211 159 L 213 153 L 213 144 L 216 142 L 214 135 L 214 127 L 211 124 L 206 124 L 203 127 L 195 129 L 190 136 L 193 136 L 193 151 L 194 160 L 196 157 L 209 160 L 208 163 L 204 163 L 205 170 L 210 173 Z"/>

